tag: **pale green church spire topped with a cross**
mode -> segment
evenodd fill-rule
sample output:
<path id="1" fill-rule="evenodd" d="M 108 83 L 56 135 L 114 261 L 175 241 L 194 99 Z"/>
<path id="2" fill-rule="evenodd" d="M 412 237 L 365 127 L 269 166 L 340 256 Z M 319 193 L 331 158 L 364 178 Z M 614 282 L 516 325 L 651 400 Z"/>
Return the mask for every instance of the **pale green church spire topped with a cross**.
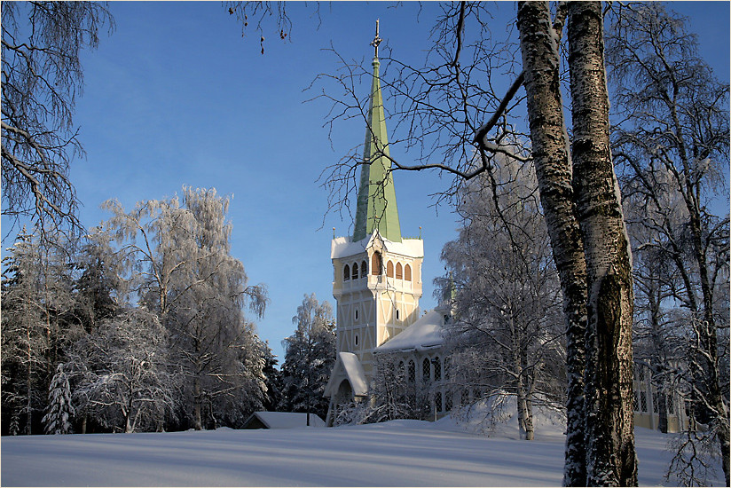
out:
<path id="1" fill-rule="evenodd" d="M 356 209 L 353 241 L 365 239 L 378 229 L 381 237 L 392 242 L 401 242 L 401 225 L 398 223 L 396 191 L 389 159 L 389 136 L 386 132 L 386 115 L 383 112 L 383 97 L 378 68 L 378 21 L 376 21 L 375 47 L 373 57 L 373 85 L 371 105 L 368 109 L 368 127 L 365 130 L 363 166 L 360 170 L 358 207 Z"/>

